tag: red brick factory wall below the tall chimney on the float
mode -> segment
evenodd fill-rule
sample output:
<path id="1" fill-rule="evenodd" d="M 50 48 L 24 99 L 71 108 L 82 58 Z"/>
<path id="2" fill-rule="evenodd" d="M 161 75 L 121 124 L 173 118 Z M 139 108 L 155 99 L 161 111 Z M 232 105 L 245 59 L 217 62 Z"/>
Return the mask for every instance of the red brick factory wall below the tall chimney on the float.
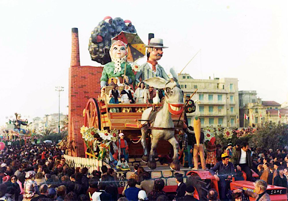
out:
<path id="1" fill-rule="evenodd" d="M 73 34 L 73 33 L 72 33 Z M 84 125 L 83 110 L 89 98 L 100 96 L 100 78 L 103 67 L 71 66 L 69 68 L 69 127 L 68 140 L 75 141 L 76 152 L 69 155 L 84 157 L 84 141 L 80 128 Z"/>

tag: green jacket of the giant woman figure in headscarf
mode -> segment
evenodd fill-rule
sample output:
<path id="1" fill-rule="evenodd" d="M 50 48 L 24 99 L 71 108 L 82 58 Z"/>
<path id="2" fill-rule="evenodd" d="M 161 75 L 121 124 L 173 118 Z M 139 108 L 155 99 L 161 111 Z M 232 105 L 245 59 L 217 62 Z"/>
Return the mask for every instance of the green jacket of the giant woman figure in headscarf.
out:
<path id="1" fill-rule="evenodd" d="M 109 63 L 106 63 L 104 65 L 103 71 L 102 71 L 102 76 L 100 78 L 100 85 L 101 87 L 105 86 L 109 80 L 109 78 L 115 78 L 115 77 L 122 77 L 122 75 L 124 75 L 124 70 L 125 70 L 125 63 L 123 62 L 121 63 L 121 71 L 120 72 L 116 72 L 114 74 L 114 69 L 115 69 L 115 65 L 114 62 L 111 61 Z M 127 62 L 126 65 L 126 76 L 128 76 L 129 78 L 129 84 L 134 84 L 135 82 L 135 75 L 134 72 L 132 71 L 131 65 L 129 62 Z"/>

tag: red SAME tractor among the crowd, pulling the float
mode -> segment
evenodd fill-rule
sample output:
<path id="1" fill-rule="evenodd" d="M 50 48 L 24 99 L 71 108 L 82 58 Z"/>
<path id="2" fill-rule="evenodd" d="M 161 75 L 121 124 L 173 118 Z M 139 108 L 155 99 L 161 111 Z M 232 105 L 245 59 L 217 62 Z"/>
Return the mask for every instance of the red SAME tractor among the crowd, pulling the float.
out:
<path id="1" fill-rule="evenodd" d="M 254 183 L 251 181 L 246 181 L 246 174 L 243 172 L 243 178 L 244 181 L 235 181 L 235 178 L 232 178 L 232 181 L 230 183 L 230 189 L 243 189 L 247 191 L 255 192 Z M 253 177 L 258 177 L 258 175 L 252 171 Z M 214 176 L 211 175 L 211 173 L 208 170 L 200 170 L 200 171 L 189 171 L 186 174 L 190 182 L 193 183 L 193 185 L 196 188 L 196 191 L 194 193 L 194 197 L 199 200 L 207 200 L 207 192 L 209 189 L 214 188 L 219 195 L 218 190 L 218 182 L 215 180 Z M 187 181 L 188 181 L 187 179 Z M 267 186 L 267 193 L 270 195 L 271 200 L 277 200 L 277 201 L 287 201 L 287 188 L 279 187 L 275 185 L 268 185 Z M 254 198 L 249 197 L 249 200 L 255 200 Z"/>

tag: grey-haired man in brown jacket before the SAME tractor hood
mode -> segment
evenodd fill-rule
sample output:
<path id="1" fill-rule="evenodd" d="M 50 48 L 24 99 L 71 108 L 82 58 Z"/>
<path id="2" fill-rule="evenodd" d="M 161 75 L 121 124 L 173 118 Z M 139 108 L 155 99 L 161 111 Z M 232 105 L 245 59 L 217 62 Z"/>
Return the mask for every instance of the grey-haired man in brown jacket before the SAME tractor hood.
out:
<path id="1" fill-rule="evenodd" d="M 267 182 L 261 179 L 258 179 L 254 183 L 255 186 L 255 193 L 247 190 L 236 189 L 233 192 L 237 193 L 244 193 L 246 196 L 255 198 L 255 200 L 259 201 L 270 201 L 270 196 L 266 193 L 267 189 Z"/>

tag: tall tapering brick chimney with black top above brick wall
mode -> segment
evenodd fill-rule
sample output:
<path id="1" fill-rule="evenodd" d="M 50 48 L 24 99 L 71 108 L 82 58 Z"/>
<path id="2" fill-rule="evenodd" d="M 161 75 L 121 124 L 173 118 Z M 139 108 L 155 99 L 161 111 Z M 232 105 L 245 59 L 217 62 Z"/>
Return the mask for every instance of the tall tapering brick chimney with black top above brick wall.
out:
<path id="1" fill-rule="evenodd" d="M 78 28 L 72 28 L 71 65 L 80 66 Z"/>

